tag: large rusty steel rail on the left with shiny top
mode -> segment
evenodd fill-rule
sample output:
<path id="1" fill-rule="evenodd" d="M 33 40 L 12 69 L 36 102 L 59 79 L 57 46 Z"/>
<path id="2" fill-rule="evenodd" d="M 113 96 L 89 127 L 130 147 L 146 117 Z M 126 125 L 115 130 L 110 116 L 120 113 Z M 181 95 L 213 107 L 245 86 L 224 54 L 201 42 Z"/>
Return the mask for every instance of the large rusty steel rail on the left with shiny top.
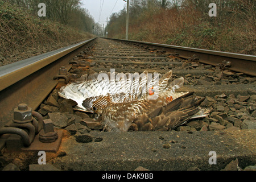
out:
<path id="1" fill-rule="evenodd" d="M 18 104 L 26 103 L 35 110 L 57 85 L 53 77 L 60 67 L 70 69 L 73 56 L 95 39 L 0 67 L 0 128 L 12 119 Z"/>

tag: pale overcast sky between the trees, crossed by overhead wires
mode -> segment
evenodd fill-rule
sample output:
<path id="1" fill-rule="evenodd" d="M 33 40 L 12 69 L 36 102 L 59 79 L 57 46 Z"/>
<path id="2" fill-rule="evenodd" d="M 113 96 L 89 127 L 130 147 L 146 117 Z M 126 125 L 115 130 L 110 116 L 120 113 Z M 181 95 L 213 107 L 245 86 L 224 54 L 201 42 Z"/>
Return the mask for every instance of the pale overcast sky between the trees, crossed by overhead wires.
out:
<path id="1" fill-rule="evenodd" d="M 123 0 L 82 0 L 82 4 L 82 7 L 85 7 L 93 16 L 95 22 L 98 23 L 100 20 L 99 23 L 101 24 L 106 24 L 107 17 L 112 13 L 118 13 L 123 7 L 127 6 Z"/>

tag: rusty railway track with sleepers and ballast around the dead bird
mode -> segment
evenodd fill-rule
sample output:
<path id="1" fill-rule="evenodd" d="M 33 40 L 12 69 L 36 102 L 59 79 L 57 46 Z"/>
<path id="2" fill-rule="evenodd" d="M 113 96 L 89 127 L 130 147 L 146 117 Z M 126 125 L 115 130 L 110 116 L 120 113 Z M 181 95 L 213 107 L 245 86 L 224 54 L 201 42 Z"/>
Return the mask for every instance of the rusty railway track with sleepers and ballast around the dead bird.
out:
<path id="1" fill-rule="evenodd" d="M 11 163 L 13 151 L 43 150 L 55 152 L 49 163 L 63 170 L 133 170 L 138 166 L 151 170 L 195 166 L 218 170 L 236 158 L 242 168 L 255 165 L 255 143 L 251 141 L 256 134 L 255 60 L 256 56 L 97 38 L 0 67 L 0 162 Z M 82 75 L 113 69 L 162 75 L 172 70 L 172 78 L 185 79 L 177 92 L 206 97 L 201 106 L 210 110 L 209 116 L 166 132 L 100 132 L 103 126 L 97 122 L 97 114 L 74 109 L 75 104 L 57 92 Z M 35 111 L 32 115 L 39 125 L 33 123 L 35 128 L 46 132 L 43 125 L 55 126 L 55 135 L 59 135 L 55 142 L 40 142 L 45 138 L 40 138 L 39 131 L 33 142 L 16 130 L 13 133 L 18 137 L 5 132 L 4 126 L 13 126 L 14 108 L 21 103 Z M 24 140 L 27 146 L 22 146 Z M 217 152 L 217 165 L 209 164 L 210 151 Z M 20 168 L 28 169 L 28 162 Z"/>

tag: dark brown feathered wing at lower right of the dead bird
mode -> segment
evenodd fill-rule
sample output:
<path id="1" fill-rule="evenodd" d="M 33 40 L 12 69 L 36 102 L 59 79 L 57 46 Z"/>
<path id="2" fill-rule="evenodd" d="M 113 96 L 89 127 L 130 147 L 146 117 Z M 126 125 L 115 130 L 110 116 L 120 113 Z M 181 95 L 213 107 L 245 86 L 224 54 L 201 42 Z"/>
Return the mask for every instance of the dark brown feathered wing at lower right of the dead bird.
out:
<path id="1" fill-rule="evenodd" d="M 150 113 L 136 117 L 129 131 L 167 131 L 183 125 L 189 119 L 205 117 L 207 113 L 199 105 L 195 93 L 189 92 L 165 106 L 159 106 Z"/>

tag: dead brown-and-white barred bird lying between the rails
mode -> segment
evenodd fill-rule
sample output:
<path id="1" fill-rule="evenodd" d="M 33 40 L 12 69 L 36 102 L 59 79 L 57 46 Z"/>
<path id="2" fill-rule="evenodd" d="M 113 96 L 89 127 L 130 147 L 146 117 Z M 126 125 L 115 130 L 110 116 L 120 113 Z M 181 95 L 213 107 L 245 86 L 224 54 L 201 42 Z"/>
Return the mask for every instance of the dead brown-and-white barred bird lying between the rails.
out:
<path id="1" fill-rule="evenodd" d="M 154 79 L 147 71 L 100 72 L 64 86 L 59 95 L 76 101 L 78 109 L 96 110 L 105 131 L 167 131 L 197 114 L 201 103 L 194 93 L 176 93 L 184 78 L 171 77 L 172 71 L 160 78 L 154 73 Z"/>

